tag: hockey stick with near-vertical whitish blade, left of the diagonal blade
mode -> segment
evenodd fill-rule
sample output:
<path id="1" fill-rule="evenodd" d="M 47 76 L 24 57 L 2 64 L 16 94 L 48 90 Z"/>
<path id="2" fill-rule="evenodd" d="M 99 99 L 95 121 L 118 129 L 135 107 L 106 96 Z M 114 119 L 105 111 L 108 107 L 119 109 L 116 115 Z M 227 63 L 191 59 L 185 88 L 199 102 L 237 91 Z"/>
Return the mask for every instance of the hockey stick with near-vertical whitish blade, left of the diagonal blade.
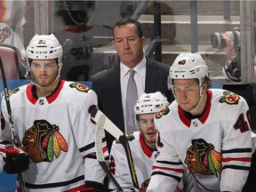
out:
<path id="1" fill-rule="evenodd" d="M 96 147 L 96 156 L 97 160 L 103 169 L 103 171 L 107 174 L 108 179 L 113 183 L 117 191 L 123 192 L 124 190 L 121 186 L 117 183 L 116 179 L 113 177 L 112 173 L 108 170 L 108 165 L 105 162 L 105 158 L 102 152 L 102 137 L 104 134 L 104 123 L 105 123 L 106 116 L 100 116 L 99 121 L 96 127 L 95 133 L 95 147 Z"/>

